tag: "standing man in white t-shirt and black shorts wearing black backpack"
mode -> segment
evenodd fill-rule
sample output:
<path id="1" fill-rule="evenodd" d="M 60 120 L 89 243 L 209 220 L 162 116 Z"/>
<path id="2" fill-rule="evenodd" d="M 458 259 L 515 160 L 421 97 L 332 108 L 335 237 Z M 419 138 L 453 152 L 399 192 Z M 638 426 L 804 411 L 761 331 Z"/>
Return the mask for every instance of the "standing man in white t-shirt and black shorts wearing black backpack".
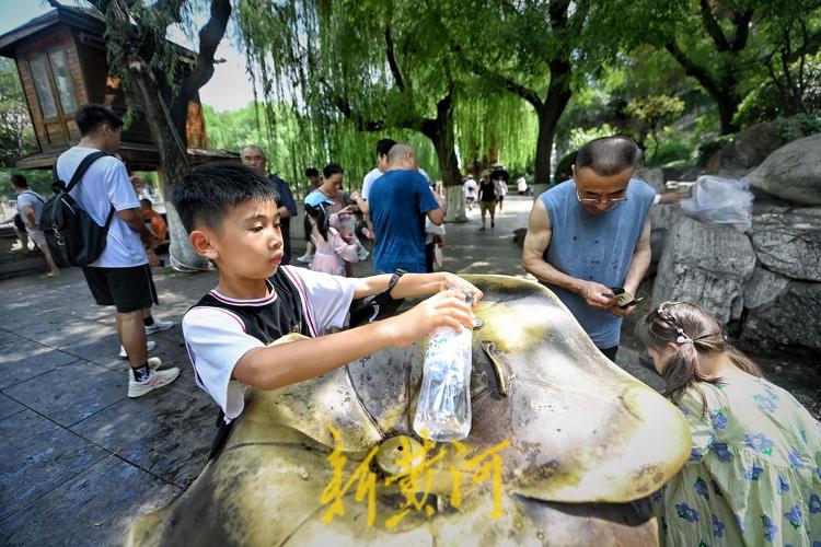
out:
<path id="1" fill-rule="evenodd" d="M 53 249 L 62 247 L 68 261 L 82 267 L 96 303 L 116 307 L 117 335 L 131 364 L 128 396 L 139 397 L 180 375 L 176 368 L 158 370 L 160 359 L 148 358 L 154 345 L 148 347 L 146 331 L 161 329 L 150 315 L 143 322 L 143 311 L 157 303 L 146 255 L 151 233 L 126 166 L 112 155 L 119 148 L 123 119 L 106 106 L 89 104 L 78 110 L 76 123 L 82 138 L 57 159 L 57 198 L 46 206 L 44 230 Z"/>

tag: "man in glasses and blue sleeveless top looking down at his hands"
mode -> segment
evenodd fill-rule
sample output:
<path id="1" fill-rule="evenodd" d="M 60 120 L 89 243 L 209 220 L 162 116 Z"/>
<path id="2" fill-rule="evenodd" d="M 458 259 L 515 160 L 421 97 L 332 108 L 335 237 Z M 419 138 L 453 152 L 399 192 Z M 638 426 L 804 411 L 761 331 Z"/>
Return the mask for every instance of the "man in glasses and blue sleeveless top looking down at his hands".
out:
<path id="1" fill-rule="evenodd" d="M 522 252 L 523 268 L 556 293 L 612 361 L 622 317 L 635 310 L 620 307 L 612 289 L 635 294 L 650 264 L 656 193 L 632 178 L 638 155 L 626 137 L 581 147 L 573 178 L 533 205 Z"/>

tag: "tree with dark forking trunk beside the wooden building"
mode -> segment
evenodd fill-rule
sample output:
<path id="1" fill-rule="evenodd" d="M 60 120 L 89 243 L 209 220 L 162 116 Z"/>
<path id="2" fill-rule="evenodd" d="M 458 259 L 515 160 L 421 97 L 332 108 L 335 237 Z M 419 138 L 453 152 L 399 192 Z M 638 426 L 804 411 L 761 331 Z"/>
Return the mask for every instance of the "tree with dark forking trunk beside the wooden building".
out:
<path id="1" fill-rule="evenodd" d="M 129 114 L 146 117 L 160 151 L 160 166 L 173 186 L 188 171 L 188 103 L 213 75 L 215 53 L 231 16 L 230 0 L 89 0 L 105 20 L 105 43 L 112 75 L 123 82 Z M 50 0 L 53 5 L 59 5 Z M 192 24 L 195 8 L 209 7 L 199 30 L 199 49 L 190 65 L 181 62 L 180 46 L 166 40 L 172 25 Z M 176 269 L 206 269 L 208 263 L 188 245 L 171 201 L 166 201 L 171 261 Z"/>

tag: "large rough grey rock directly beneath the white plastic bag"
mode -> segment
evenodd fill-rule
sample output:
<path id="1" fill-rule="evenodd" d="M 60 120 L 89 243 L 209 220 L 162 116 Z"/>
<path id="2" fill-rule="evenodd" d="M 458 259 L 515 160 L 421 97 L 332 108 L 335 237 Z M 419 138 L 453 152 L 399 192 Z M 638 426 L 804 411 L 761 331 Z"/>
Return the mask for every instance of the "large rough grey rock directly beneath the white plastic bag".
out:
<path id="1" fill-rule="evenodd" d="M 682 216 L 664 242 L 652 288 L 654 306 L 667 300 L 686 301 L 721 323 L 738 319 L 743 284 L 754 268 L 755 254 L 747 235 Z"/>

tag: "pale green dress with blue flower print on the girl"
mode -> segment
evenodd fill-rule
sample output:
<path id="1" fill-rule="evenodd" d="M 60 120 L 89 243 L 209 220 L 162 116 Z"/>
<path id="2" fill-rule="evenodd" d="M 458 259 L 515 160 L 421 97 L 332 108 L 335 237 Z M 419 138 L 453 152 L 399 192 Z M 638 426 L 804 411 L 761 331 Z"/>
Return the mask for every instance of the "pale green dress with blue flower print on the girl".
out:
<path id="1" fill-rule="evenodd" d="M 662 545 L 821 547 L 821 424 L 785 389 L 733 373 L 679 408 L 690 461 L 650 497 Z"/>

